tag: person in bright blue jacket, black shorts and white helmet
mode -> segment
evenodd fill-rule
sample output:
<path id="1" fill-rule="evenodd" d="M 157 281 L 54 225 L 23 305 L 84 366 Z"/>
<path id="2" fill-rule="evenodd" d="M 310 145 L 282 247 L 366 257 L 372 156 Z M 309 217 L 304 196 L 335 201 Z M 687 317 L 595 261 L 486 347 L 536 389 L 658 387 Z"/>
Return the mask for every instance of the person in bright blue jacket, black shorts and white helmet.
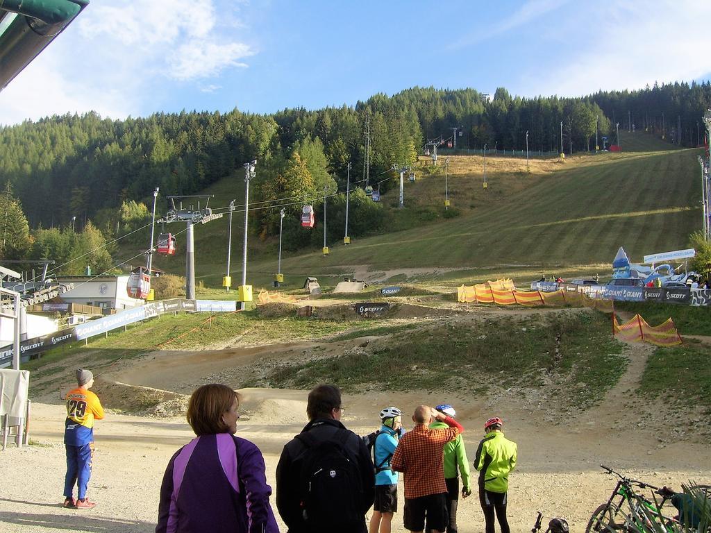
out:
<path id="1" fill-rule="evenodd" d="M 385 407 L 380 411 L 380 432 L 373 445 L 375 465 L 375 503 L 370 518 L 368 533 L 390 533 L 392 515 L 397 512 L 398 473 L 390 470 L 390 460 L 397 448 L 397 441 L 404 433 L 402 411 L 397 407 Z"/>

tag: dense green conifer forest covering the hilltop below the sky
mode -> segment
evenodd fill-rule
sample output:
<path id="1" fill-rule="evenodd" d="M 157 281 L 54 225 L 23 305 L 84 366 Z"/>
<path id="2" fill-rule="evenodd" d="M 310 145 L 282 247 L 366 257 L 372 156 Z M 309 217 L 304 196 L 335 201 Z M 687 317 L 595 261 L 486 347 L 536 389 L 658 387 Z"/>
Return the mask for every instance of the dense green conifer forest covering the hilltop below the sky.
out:
<path id="1" fill-rule="evenodd" d="M 260 160 L 255 201 L 303 198 L 317 204 L 324 189 L 345 190 L 349 161 L 352 178 L 360 180 L 365 131 L 370 175 L 376 176 L 393 164 L 409 165 L 429 139 L 446 139 L 455 127 L 462 132 L 457 149 L 484 144 L 525 149 L 528 131 L 532 152 L 558 151 L 561 122 L 566 153 L 571 146 L 574 152 L 594 150 L 596 127 L 614 144 L 616 123 L 620 129 L 631 123 L 674 144 L 697 146 L 703 143 L 700 121 L 709 107 L 711 82 L 530 99 L 512 97 L 503 88 L 489 99 L 472 89 L 414 87 L 392 97 L 374 95 L 355 107 L 284 109 L 270 115 L 235 109 L 125 120 L 68 114 L 28 121 L 0 129 L 0 222 L 6 230 L 0 259 L 71 257 L 78 245 L 60 236 L 73 217 L 77 230 L 90 230 L 92 242 L 114 238 L 145 222 L 156 186 L 161 194 L 196 193 L 241 171 L 242 163 L 253 158 Z M 380 206 L 365 201 L 363 206 L 373 216 L 354 221 L 355 236 L 383 229 L 377 227 Z M 298 203 L 287 208 L 294 216 L 300 209 Z M 278 210 L 262 213 L 260 234 L 278 232 Z M 292 249 L 309 244 L 297 237 L 292 236 Z M 94 266 L 101 269 L 107 262 L 104 254 Z"/>

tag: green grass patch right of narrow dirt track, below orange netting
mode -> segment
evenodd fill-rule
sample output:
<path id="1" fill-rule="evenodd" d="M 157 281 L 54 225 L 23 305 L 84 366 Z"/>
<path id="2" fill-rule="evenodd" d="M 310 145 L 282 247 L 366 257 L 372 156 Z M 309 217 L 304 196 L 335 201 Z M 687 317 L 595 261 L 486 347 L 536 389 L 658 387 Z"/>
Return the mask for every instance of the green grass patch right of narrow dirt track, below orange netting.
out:
<path id="1" fill-rule="evenodd" d="M 639 390 L 649 397 L 671 398 L 711 412 L 709 348 L 696 340 L 657 348 L 647 360 Z"/>

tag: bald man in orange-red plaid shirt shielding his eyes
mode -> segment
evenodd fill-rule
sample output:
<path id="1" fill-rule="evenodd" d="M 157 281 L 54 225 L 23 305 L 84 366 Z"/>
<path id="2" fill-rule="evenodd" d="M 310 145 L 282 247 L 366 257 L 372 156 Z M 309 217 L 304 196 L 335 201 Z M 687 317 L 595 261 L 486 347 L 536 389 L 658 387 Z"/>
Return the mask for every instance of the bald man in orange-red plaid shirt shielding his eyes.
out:
<path id="1" fill-rule="evenodd" d="M 449 427 L 429 429 L 434 419 Z M 421 533 L 427 517 L 432 533 L 442 533 L 448 522 L 442 451 L 464 428 L 451 416 L 426 405 L 415 409 L 412 421 L 415 428 L 400 438 L 390 461 L 392 470 L 405 474 L 405 529 Z"/>

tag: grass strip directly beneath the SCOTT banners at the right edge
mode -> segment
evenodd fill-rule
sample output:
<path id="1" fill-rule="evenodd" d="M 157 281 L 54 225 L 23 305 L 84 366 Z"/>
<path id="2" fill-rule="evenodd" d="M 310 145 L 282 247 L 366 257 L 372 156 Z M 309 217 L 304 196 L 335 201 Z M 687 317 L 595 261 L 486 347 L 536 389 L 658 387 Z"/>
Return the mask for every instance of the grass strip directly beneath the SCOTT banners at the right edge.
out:
<path id="1" fill-rule="evenodd" d="M 615 302 L 615 308 L 639 313 L 649 325 L 671 318 L 680 335 L 711 335 L 711 308 L 654 302 Z"/>

